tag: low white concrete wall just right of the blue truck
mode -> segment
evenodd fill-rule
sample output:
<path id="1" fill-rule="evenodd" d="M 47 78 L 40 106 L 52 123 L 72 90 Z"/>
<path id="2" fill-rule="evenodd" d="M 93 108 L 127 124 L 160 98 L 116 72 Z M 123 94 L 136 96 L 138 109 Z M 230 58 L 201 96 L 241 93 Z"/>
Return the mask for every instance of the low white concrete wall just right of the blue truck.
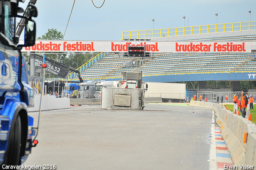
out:
<path id="1" fill-rule="evenodd" d="M 34 96 L 34 107 L 28 108 L 28 112 L 39 111 L 41 96 Z M 55 96 L 42 96 L 41 110 L 70 108 L 69 98 L 56 98 Z"/>

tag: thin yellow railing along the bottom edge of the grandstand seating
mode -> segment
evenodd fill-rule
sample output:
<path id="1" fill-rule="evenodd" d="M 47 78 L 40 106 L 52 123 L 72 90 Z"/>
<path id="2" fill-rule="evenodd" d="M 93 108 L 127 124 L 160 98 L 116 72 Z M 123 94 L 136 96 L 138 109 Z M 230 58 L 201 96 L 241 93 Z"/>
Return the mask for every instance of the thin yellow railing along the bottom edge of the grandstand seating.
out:
<path id="1" fill-rule="evenodd" d="M 162 74 L 144 74 L 144 77 L 148 76 L 166 76 L 166 75 L 183 75 L 183 74 L 216 74 L 216 73 L 255 73 L 254 71 L 217 71 L 217 72 L 180 72 L 180 73 L 162 73 Z M 114 78 L 121 78 L 121 76 L 114 76 L 114 77 L 102 77 L 102 78 L 84 78 L 84 80 L 104 80 L 104 79 L 114 79 Z M 72 79 L 72 80 L 79 80 L 79 79 Z M 68 80 L 70 81 L 70 80 Z"/>

